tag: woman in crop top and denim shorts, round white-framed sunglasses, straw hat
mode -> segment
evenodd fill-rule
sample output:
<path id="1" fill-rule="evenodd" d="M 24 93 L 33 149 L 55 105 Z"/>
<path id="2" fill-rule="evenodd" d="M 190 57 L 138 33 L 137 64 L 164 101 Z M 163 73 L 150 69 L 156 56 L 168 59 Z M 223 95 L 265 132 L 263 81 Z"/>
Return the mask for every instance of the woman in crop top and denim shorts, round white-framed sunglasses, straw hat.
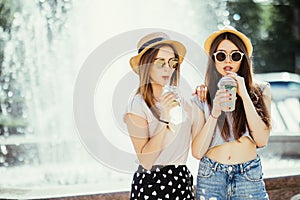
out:
<path id="1" fill-rule="evenodd" d="M 268 199 L 257 148 L 270 135 L 270 85 L 253 80 L 252 44 L 232 27 L 212 33 L 204 43 L 209 56 L 205 77 L 205 101 L 194 102 L 202 110 L 202 130 L 194 138 L 192 153 L 200 159 L 196 199 Z M 221 77 L 237 84 L 235 110 L 223 112 L 231 100 L 218 89 Z"/>

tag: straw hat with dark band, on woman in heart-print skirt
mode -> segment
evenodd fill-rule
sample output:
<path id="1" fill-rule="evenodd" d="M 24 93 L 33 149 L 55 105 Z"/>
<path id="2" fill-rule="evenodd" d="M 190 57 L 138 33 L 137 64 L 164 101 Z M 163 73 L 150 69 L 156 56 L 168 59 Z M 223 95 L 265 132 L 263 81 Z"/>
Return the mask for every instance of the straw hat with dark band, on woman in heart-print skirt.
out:
<path id="1" fill-rule="evenodd" d="M 179 63 L 182 63 L 183 58 L 186 53 L 185 46 L 175 40 L 171 40 L 170 37 L 163 32 L 154 32 L 144 36 L 137 44 L 138 55 L 133 56 L 130 59 L 130 66 L 135 73 L 138 73 L 139 61 L 142 55 L 151 47 L 154 47 L 158 44 L 170 44 L 172 45 L 178 55 L 179 55 Z"/>

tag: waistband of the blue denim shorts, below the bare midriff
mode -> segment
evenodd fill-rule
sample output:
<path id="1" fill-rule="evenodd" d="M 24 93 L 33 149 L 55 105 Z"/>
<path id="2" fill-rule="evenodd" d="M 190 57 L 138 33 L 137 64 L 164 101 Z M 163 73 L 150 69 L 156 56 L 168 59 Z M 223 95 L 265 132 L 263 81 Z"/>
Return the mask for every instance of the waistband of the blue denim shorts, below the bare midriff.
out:
<path id="1" fill-rule="evenodd" d="M 206 156 L 202 157 L 201 162 L 208 164 L 212 168 L 213 171 L 240 172 L 242 174 L 251 168 L 261 165 L 261 160 L 258 155 L 253 160 L 247 161 L 245 163 L 233 164 L 233 165 L 222 164 L 222 163 L 216 162 Z"/>

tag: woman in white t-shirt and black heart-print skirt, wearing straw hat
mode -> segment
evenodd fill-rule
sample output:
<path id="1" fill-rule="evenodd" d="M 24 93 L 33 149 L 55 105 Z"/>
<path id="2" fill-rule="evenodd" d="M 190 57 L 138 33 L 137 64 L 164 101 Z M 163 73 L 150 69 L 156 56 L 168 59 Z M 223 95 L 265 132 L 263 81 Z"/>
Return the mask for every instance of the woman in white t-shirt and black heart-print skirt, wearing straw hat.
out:
<path id="1" fill-rule="evenodd" d="M 178 102 L 175 93 L 163 93 L 164 85 L 178 84 L 186 48 L 155 32 L 142 38 L 137 49 L 130 65 L 140 83 L 124 117 L 140 163 L 130 199 L 194 199 L 193 177 L 185 165 L 192 132 L 196 132 L 191 101 L 181 98 Z M 179 104 L 182 120 L 175 123 L 170 113 Z"/>

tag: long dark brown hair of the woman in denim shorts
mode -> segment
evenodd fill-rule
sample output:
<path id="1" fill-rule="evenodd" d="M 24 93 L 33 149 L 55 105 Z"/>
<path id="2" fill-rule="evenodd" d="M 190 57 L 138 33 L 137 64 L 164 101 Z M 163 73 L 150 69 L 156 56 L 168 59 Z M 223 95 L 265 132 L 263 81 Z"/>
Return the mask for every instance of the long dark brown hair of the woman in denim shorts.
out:
<path id="1" fill-rule="evenodd" d="M 217 84 L 221 78 L 221 74 L 217 71 L 215 63 L 214 63 L 214 56 L 213 53 L 216 51 L 217 47 L 223 40 L 230 40 L 233 42 L 240 51 L 244 53 L 243 59 L 241 61 L 240 68 L 237 72 L 239 76 L 244 77 L 245 85 L 248 91 L 248 94 L 255 106 L 256 112 L 261 117 L 263 122 L 266 124 L 268 128 L 271 128 L 270 122 L 270 114 L 267 111 L 266 105 L 263 102 L 263 94 L 258 84 L 253 83 L 253 71 L 252 71 L 252 63 L 250 57 L 247 53 L 247 49 L 245 44 L 242 40 L 232 33 L 223 33 L 219 35 L 211 45 L 209 58 L 208 59 L 208 67 L 205 76 L 205 84 L 208 86 L 208 93 L 207 93 L 207 102 L 209 105 L 210 110 L 212 110 L 212 99 L 214 99 L 216 92 L 217 92 Z M 239 95 L 237 95 L 236 99 L 236 107 L 232 113 L 233 117 L 233 133 L 234 138 L 240 138 L 246 131 L 247 126 L 247 118 L 243 106 L 243 101 Z M 225 113 L 222 112 L 221 116 L 218 118 L 218 127 L 221 130 L 222 137 L 226 141 L 230 137 L 230 130 L 229 124 L 225 117 Z"/>

